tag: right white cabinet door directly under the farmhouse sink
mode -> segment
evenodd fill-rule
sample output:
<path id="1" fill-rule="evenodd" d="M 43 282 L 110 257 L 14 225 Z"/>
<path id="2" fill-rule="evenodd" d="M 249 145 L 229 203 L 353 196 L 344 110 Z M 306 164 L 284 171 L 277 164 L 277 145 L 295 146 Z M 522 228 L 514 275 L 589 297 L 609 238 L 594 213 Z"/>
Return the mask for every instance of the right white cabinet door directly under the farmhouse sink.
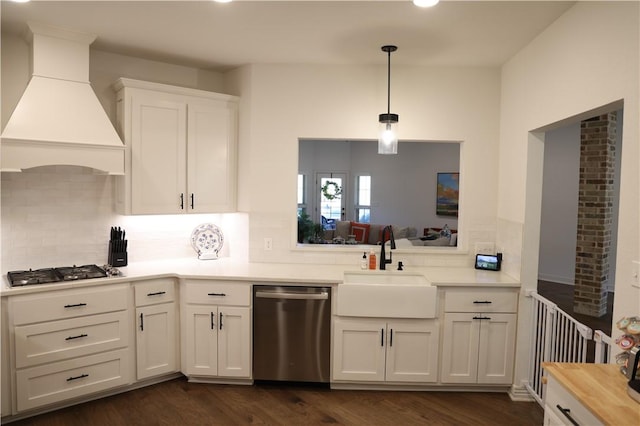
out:
<path id="1" fill-rule="evenodd" d="M 386 380 L 438 380 L 438 322 L 394 320 L 387 325 Z"/>

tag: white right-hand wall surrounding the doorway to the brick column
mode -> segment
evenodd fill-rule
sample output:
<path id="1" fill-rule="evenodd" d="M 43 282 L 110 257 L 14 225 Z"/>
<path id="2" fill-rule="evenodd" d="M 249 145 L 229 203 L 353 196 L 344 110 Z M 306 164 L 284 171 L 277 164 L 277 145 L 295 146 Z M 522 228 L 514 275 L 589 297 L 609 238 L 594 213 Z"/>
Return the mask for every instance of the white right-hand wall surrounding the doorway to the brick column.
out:
<path id="1" fill-rule="evenodd" d="M 536 288 L 540 238 L 544 135 L 531 132 L 624 100 L 614 321 L 640 312 L 640 289 L 631 285 L 631 261 L 640 257 L 639 35 L 637 2 L 579 2 L 502 70 L 498 223 L 523 229 L 523 292 Z M 501 236 L 498 229 L 498 244 Z M 520 309 L 528 318 L 528 299 Z M 519 322 L 517 384 L 527 375 L 529 329 Z"/>

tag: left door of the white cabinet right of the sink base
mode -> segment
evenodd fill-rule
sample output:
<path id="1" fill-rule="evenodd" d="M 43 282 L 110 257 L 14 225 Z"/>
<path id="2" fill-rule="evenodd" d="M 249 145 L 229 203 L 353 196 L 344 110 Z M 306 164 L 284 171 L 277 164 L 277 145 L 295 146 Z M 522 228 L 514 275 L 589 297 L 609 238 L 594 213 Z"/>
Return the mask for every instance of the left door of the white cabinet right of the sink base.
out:
<path id="1" fill-rule="evenodd" d="M 442 339 L 442 383 L 476 383 L 480 320 L 472 313 L 446 313 Z"/>

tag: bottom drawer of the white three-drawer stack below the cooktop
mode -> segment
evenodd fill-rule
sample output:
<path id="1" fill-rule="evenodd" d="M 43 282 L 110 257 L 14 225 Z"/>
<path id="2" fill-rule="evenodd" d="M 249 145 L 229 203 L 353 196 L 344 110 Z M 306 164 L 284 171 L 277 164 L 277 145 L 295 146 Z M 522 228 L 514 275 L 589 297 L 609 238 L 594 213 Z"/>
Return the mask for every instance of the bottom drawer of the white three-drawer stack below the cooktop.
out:
<path id="1" fill-rule="evenodd" d="M 130 372 L 126 349 L 18 370 L 17 408 L 29 410 L 126 385 Z"/>

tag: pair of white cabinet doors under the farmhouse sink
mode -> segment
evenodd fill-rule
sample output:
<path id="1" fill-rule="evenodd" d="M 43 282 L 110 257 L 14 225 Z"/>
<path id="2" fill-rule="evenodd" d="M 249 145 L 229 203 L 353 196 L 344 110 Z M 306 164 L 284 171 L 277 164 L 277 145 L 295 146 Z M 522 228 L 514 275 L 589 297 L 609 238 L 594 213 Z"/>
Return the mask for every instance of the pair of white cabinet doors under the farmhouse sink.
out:
<path id="1" fill-rule="evenodd" d="M 437 320 L 334 321 L 334 380 L 432 383 L 437 366 Z"/>

